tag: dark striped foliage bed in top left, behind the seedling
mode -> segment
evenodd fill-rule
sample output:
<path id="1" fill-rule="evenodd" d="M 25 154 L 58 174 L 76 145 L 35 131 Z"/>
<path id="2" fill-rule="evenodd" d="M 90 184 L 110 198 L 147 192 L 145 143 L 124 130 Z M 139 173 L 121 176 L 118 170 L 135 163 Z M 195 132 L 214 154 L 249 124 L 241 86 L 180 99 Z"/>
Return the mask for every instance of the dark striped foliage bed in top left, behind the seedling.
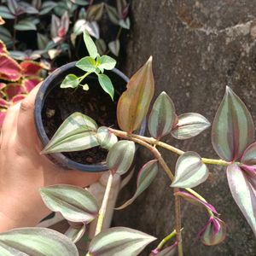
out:
<path id="1" fill-rule="evenodd" d="M 17 60 L 42 58 L 58 67 L 84 55 L 85 30 L 96 39 L 100 55 L 118 56 L 122 29 L 130 28 L 128 9 L 126 0 L 113 5 L 93 0 L 2 0 L 0 39 Z"/>

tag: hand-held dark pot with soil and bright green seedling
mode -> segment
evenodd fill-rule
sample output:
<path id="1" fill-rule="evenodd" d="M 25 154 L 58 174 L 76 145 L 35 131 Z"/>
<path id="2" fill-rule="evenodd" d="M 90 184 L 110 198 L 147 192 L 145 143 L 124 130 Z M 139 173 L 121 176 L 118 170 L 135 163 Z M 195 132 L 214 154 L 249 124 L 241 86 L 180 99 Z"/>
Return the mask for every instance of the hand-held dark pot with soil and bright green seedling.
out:
<path id="1" fill-rule="evenodd" d="M 113 58 L 99 55 L 87 32 L 84 32 L 84 43 L 90 55 L 56 69 L 38 91 L 34 116 L 44 146 L 74 112 L 85 113 L 100 125 L 117 127 L 116 105 L 129 79 L 114 68 L 116 61 Z M 140 134 L 143 131 L 144 125 Z M 86 172 L 108 170 L 105 163 L 108 148 L 87 148 L 70 150 L 67 146 L 62 154 L 51 154 L 49 158 L 69 169 Z M 83 150 L 77 152 L 77 149 Z"/>

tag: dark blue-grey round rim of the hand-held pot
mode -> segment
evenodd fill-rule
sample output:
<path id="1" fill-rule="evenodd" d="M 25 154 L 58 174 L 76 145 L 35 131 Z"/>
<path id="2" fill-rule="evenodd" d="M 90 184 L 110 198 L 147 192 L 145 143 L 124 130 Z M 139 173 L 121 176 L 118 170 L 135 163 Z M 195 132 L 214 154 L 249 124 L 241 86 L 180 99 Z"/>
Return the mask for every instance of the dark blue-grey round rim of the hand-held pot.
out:
<path id="1" fill-rule="evenodd" d="M 44 125 L 42 120 L 42 109 L 44 108 L 44 99 L 47 97 L 47 90 L 49 88 L 49 84 L 51 84 L 55 78 L 60 73 L 67 72 L 68 69 L 75 66 L 77 61 L 70 62 L 66 65 L 63 65 L 62 67 L 57 68 L 53 73 L 51 73 L 46 79 L 44 79 L 43 84 L 40 86 L 38 90 L 38 94 L 35 99 L 35 108 L 34 108 L 34 120 L 36 129 L 38 132 L 38 137 L 40 138 L 41 142 L 43 143 L 43 146 L 45 146 L 47 143 L 49 143 L 49 137 L 47 136 L 46 132 L 44 131 Z M 119 69 L 113 68 L 110 70 L 110 72 L 113 72 L 117 74 L 121 79 L 124 79 L 126 83 L 128 83 L 129 79 L 125 76 L 124 73 L 120 72 Z M 141 129 L 139 131 L 140 135 L 143 135 L 146 130 L 146 120 L 143 121 L 143 124 L 141 126 Z M 108 171 L 108 166 L 106 164 L 95 164 L 95 165 L 84 165 L 81 163 L 78 163 L 74 160 L 71 160 L 67 158 L 64 154 L 58 153 L 58 154 L 49 154 L 51 159 L 53 159 L 55 162 L 61 164 L 61 166 L 67 168 L 67 169 L 74 169 L 79 170 L 83 172 L 104 172 Z M 49 156 L 48 154 L 46 156 Z"/>

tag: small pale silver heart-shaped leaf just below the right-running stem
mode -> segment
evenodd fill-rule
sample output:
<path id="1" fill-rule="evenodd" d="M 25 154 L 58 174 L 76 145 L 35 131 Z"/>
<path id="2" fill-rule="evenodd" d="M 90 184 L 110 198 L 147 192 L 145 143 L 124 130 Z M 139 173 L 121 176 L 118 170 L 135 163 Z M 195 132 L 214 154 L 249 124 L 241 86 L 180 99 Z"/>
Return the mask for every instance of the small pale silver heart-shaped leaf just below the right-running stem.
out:
<path id="1" fill-rule="evenodd" d="M 208 175 L 207 166 L 202 162 L 201 156 L 188 151 L 177 159 L 175 177 L 171 187 L 193 188 L 205 182 Z"/>

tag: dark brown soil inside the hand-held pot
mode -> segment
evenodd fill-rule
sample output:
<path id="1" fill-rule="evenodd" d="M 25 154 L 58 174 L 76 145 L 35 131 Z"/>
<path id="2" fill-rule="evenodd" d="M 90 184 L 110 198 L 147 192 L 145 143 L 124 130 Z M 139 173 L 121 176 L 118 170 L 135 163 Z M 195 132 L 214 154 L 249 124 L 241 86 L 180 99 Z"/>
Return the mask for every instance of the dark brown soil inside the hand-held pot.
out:
<path id="1" fill-rule="evenodd" d="M 74 112 L 90 116 L 99 126 L 118 127 L 116 107 L 121 91 L 125 90 L 125 81 L 116 76 L 112 76 L 110 79 L 114 88 L 118 88 L 115 91 L 114 101 L 102 90 L 94 77 L 86 79 L 86 83 L 90 87 L 87 91 L 83 90 L 81 86 L 78 89 L 61 89 L 60 84 L 57 84 L 47 96 L 42 111 L 44 130 L 49 139 L 53 137 L 62 122 Z M 63 154 L 81 164 L 93 165 L 104 163 L 108 151 L 96 147 Z"/>

